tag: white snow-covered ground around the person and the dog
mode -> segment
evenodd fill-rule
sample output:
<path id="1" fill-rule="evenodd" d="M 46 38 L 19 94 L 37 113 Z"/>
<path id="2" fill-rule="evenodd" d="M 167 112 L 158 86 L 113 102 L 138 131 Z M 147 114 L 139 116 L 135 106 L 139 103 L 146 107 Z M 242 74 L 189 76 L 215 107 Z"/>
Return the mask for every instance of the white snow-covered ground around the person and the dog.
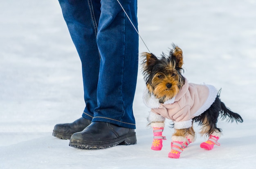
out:
<path id="1" fill-rule="evenodd" d="M 133 106 L 136 145 L 81 150 L 53 137 L 55 124 L 80 118 L 85 106 L 79 56 L 57 0 L 2 0 L 0 169 L 255 169 L 255 9 L 254 0 L 139 0 L 139 33 L 150 52 L 159 56 L 177 44 L 189 82 L 221 88 L 222 101 L 244 119 L 219 120 L 220 147 L 201 149 L 207 138 L 198 134 L 180 159 L 171 159 L 170 121 L 162 151 L 150 149 L 141 68 Z M 145 51 L 140 40 L 139 52 Z"/>

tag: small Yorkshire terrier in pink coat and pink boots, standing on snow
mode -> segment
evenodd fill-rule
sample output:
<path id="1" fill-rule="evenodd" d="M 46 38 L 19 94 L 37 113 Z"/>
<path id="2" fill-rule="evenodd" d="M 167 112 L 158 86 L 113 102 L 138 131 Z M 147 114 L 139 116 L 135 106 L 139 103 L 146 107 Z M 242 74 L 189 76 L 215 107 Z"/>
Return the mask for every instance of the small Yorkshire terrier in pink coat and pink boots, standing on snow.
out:
<path id="1" fill-rule="evenodd" d="M 180 153 L 195 141 L 193 122 L 202 126 L 201 135 L 209 139 L 200 144 L 206 150 L 220 145 L 222 130 L 217 127 L 218 118 L 231 122 L 243 122 L 243 118 L 232 112 L 220 101 L 220 91 L 211 85 L 189 83 L 182 76 L 182 49 L 173 44 L 169 56 L 158 59 L 153 53 L 142 53 L 142 73 L 146 82 L 143 101 L 151 108 L 147 118 L 153 128 L 153 150 L 162 149 L 162 136 L 166 118 L 173 120 L 175 133 L 171 138 L 169 158 L 180 158 Z"/>

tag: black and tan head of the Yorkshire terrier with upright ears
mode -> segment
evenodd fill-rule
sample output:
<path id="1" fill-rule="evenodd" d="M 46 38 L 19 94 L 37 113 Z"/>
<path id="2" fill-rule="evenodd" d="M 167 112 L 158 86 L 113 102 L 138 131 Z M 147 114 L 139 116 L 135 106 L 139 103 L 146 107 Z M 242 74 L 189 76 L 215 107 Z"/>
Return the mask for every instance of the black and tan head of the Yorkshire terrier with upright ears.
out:
<path id="1" fill-rule="evenodd" d="M 182 50 L 173 44 L 168 56 L 158 59 L 153 53 L 142 53 L 142 71 L 148 91 L 164 102 L 173 98 L 185 83 L 182 76 Z"/>

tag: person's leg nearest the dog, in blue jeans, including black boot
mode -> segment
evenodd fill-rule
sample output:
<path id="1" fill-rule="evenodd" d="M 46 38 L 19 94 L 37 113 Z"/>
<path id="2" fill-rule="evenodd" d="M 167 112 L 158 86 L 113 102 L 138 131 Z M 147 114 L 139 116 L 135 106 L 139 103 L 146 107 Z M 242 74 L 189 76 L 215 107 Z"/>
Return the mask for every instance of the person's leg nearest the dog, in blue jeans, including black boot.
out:
<path id="1" fill-rule="evenodd" d="M 137 27 L 137 0 L 120 0 Z M 70 146 L 101 149 L 136 144 L 132 102 L 138 71 L 138 34 L 116 0 L 101 0 L 97 34 L 101 55 L 98 107 L 92 123 L 74 133 Z"/>

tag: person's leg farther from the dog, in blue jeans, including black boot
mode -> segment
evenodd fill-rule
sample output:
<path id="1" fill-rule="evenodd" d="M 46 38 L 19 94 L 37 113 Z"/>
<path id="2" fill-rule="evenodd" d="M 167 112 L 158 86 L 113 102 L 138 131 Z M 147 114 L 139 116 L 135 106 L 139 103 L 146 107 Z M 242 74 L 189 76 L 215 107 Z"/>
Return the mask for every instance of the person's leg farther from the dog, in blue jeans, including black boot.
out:
<path id="1" fill-rule="evenodd" d="M 81 59 L 86 104 L 83 118 L 54 127 L 53 136 L 70 139 L 73 133 L 82 131 L 91 123 L 94 109 L 97 107 L 100 55 L 96 38 L 101 4 L 100 0 L 59 0 L 59 3 Z"/>

